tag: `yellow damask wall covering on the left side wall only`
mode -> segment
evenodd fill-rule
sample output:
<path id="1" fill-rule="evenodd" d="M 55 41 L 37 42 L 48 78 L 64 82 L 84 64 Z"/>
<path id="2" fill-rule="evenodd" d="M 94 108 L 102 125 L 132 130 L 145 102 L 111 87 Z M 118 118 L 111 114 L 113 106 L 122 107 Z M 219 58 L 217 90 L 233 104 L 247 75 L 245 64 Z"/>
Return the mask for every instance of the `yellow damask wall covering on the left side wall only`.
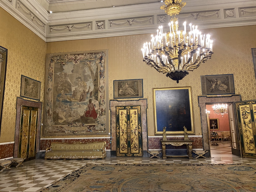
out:
<path id="1" fill-rule="evenodd" d="M 14 141 L 21 74 L 41 81 L 44 98 L 46 42 L 0 7 L 0 44 L 8 49 L 1 143 Z M 28 99 L 29 100 L 29 99 Z"/>

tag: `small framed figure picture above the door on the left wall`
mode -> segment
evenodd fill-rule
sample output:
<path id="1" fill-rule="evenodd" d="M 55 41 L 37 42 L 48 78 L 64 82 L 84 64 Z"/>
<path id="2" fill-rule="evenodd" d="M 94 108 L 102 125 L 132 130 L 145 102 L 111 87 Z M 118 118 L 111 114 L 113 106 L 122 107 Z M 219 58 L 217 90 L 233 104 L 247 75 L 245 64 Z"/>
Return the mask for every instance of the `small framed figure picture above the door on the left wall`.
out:
<path id="1" fill-rule="evenodd" d="M 21 75 L 20 97 L 40 101 L 41 82 Z"/>

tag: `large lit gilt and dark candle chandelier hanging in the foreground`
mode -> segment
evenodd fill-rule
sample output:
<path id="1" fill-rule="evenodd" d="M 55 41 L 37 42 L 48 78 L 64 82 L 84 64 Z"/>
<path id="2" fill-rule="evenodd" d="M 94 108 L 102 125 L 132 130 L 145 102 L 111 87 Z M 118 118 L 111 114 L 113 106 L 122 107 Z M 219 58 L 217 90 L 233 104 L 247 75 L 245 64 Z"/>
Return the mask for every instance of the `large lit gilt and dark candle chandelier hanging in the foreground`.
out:
<path id="1" fill-rule="evenodd" d="M 166 73 L 166 77 L 175 80 L 183 79 L 188 71 L 198 68 L 211 58 L 212 40 L 210 35 L 202 35 L 197 25 L 186 22 L 184 30 L 178 30 L 178 18 L 181 8 L 186 5 L 182 0 L 165 0 L 161 9 L 171 16 L 169 32 L 163 33 L 163 26 L 159 26 L 157 34 L 151 35 L 151 42 L 143 45 L 143 61 L 158 72 Z"/>

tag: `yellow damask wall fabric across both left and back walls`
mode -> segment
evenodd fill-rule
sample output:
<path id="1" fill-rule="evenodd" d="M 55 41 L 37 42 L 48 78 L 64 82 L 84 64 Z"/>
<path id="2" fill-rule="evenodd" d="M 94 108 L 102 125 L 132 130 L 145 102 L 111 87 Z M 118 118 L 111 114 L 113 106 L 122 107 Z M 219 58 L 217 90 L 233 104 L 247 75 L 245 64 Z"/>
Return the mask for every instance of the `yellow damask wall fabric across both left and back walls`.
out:
<path id="1" fill-rule="evenodd" d="M 41 81 L 41 101 L 43 100 L 46 53 L 108 49 L 109 99 L 113 99 L 113 80 L 143 79 L 144 98 L 148 99 L 149 136 L 154 135 L 152 88 L 192 87 L 196 135 L 201 134 L 197 100 L 197 96 L 201 95 L 200 75 L 233 73 L 236 94 L 241 94 L 242 100 L 256 98 L 256 81 L 251 54 L 251 48 L 256 47 L 254 37 L 256 25 L 203 29 L 202 31 L 211 34 L 214 40 L 212 59 L 202 64 L 197 70 L 190 72 L 177 84 L 142 61 L 141 47 L 150 39 L 151 34 L 46 44 L 2 8 L 0 8 L 0 18 L 5 18 L 0 20 L 1 46 L 8 49 L 1 142 L 14 140 L 15 103 L 16 97 L 20 95 L 21 74 Z"/>

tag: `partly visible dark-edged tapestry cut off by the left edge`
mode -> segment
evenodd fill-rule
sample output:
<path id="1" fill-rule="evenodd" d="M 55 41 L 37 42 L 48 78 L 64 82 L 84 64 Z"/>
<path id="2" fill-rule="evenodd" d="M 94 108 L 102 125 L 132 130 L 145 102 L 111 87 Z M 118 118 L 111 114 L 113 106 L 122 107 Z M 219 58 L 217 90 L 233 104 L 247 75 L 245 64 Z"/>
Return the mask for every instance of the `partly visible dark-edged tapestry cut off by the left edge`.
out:
<path id="1" fill-rule="evenodd" d="M 2 113 L 4 104 L 4 90 L 5 90 L 5 78 L 6 78 L 6 67 L 7 67 L 7 52 L 8 50 L 0 46 L 0 135 L 2 125 Z"/>

